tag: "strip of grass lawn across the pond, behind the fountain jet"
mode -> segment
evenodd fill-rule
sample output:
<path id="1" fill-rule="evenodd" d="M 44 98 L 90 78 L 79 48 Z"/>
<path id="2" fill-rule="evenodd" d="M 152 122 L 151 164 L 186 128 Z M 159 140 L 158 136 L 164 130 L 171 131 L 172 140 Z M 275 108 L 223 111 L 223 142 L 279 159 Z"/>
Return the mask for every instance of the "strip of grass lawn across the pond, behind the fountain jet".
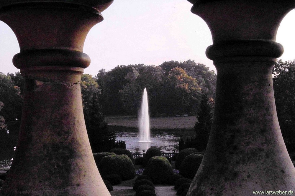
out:
<path id="1" fill-rule="evenodd" d="M 113 126 L 138 127 L 136 116 L 106 116 L 106 122 Z M 193 129 L 196 116 L 153 117 L 150 118 L 150 128 L 156 129 Z"/>

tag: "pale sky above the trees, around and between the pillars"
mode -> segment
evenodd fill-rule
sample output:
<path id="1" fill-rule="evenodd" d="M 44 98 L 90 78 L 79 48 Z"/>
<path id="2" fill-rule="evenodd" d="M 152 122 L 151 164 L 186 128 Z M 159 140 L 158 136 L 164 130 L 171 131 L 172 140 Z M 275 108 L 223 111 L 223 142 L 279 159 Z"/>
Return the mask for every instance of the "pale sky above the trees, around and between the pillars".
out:
<path id="1" fill-rule="evenodd" d="M 115 0 L 102 12 L 104 21 L 94 26 L 85 41 L 84 53 L 91 58 L 85 73 L 95 76 L 100 69 L 117 65 L 160 65 L 164 61 L 194 60 L 215 67 L 205 55 L 212 45 L 207 24 L 190 12 L 186 0 Z M 295 59 L 295 11 L 282 21 L 277 39 L 284 47 L 283 61 Z M 12 30 L 0 21 L 0 72 L 19 71 L 12 57 L 19 53 Z"/>

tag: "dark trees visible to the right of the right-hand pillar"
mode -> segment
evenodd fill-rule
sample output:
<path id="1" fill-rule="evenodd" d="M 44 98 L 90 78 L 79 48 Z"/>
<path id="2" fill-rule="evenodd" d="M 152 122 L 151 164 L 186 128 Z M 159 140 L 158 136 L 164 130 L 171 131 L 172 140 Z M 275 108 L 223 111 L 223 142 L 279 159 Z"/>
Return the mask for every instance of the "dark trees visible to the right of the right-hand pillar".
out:
<path id="1" fill-rule="evenodd" d="M 289 153 L 295 151 L 295 61 L 278 60 L 273 68 L 273 90 L 278 121 Z"/>

